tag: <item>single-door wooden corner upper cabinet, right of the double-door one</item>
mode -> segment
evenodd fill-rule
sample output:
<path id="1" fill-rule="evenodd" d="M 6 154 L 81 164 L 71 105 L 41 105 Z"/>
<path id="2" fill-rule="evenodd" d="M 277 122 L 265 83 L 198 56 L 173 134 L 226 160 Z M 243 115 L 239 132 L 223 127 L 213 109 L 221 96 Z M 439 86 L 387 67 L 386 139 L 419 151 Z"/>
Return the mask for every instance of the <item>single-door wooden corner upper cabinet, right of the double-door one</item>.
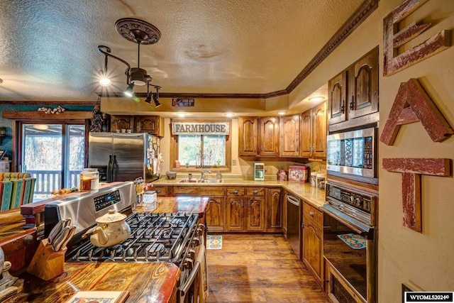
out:
<path id="1" fill-rule="evenodd" d="M 299 114 L 279 119 L 279 156 L 299 157 Z"/>

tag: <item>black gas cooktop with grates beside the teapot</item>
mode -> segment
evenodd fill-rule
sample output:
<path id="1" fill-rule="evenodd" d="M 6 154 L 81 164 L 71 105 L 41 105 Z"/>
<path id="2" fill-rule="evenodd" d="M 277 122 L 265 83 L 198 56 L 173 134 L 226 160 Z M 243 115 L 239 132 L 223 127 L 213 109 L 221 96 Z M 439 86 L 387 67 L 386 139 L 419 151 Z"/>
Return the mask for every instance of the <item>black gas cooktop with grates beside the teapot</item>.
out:
<path id="1" fill-rule="evenodd" d="M 67 262 L 170 262 L 181 265 L 188 246 L 200 244 L 198 214 L 130 214 L 131 235 L 101 248 L 88 239 L 70 248 Z"/>

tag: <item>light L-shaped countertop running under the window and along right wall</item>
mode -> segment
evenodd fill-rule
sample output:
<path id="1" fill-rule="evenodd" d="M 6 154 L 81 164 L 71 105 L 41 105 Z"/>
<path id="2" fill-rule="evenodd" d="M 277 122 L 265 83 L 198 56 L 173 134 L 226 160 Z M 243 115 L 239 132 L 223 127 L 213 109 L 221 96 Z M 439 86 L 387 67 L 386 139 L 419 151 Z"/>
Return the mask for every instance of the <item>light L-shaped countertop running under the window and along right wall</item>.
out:
<path id="1" fill-rule="evenodd" d="M 254 181 L 254 180 L 243 180 L 243 179 L 223 179 L 221 183 L 184 183 L 179 182 L 182 179 L 160 179 L 151 183 L 153 186 L 253 186 L 253 187 L 282 187 L 289 192 L 297 195 L 304 201 L 309 202 L 313 206 L 319 208 L 325 204 L 325 191 L 316 187 L 311 187 L 309 183 L 289 182 L 289 181 L 278 181 L 278 180 L 265 180 L 265 181 Z"/>

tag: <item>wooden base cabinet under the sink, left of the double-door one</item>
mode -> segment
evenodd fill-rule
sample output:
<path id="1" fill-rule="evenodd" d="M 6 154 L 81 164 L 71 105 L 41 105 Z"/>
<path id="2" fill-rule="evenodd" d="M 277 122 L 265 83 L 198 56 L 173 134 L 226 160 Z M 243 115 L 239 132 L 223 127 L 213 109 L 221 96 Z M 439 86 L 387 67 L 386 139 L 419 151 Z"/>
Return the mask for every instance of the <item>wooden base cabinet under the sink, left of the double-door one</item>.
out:
<path id="1" fill-rule="evenodd" d="M 200 195 L 209 197 L 206 205 L 206 227 L 209 232 L 224 231 L 224 187 L 200 187 Z"/>

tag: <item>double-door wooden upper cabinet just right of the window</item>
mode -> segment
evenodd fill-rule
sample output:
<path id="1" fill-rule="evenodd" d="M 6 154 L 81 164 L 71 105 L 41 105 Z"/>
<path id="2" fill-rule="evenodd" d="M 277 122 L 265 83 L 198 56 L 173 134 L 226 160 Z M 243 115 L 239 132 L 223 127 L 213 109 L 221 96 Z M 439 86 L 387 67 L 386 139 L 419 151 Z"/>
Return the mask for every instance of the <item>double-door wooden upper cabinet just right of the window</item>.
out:
<path id="1" fill-rule="evenodd" d="M 240 117 L 238 128 L 238 155 L 279 155 L 279 117 Z"/>

